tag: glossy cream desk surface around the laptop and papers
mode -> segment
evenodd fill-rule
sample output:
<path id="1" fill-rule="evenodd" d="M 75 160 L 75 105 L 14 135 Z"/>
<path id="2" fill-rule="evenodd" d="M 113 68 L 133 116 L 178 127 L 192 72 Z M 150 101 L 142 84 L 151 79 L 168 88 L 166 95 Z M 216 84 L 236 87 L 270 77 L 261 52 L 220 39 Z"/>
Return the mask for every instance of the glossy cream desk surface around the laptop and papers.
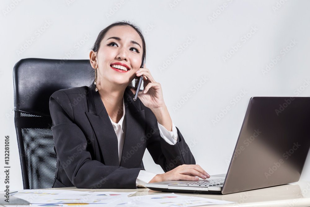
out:
<path id="1" fill-rule="evenodd" d="M 61 190 L 77 190 L 77 191 L 114 191 L 114 192 L 135 192 L 131 196 L 145 196 L 151 194 L 162 194 L 167 192 L 152 191 L 148 188 L 138 189 L 78 189 L 75 187 L 53 188 Z M 240 193 L 232 193 L 227 195 L 212 194 L 191 194 L 191 193 L 175 193 L 184 196 L 197 196 L 204 198 L 212 198 L 218 200 L 228 200 L 237 203 L 216 205 L 218 207 L 227 206 L 310 206 L 310 181 L 299 181 L 287 185 L 263 188 Z M 209 206 L 209 205 L 204 205 Z"/>

